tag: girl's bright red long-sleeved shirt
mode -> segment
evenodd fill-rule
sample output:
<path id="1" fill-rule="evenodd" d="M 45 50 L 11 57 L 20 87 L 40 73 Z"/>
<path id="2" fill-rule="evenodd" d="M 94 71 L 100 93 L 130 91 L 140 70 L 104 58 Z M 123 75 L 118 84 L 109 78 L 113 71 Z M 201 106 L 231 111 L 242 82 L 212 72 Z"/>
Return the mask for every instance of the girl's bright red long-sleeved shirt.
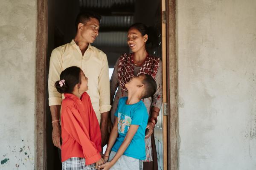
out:
<path id="1" fill-rule="evenodd" d="M 64 94 L 61 104 L 61 161 L 71 157 L 85 159 L 93 164 L 102 152 L 101 131 L 90 96 L 84 92 L 79 99 L 73 94 Z"/>

